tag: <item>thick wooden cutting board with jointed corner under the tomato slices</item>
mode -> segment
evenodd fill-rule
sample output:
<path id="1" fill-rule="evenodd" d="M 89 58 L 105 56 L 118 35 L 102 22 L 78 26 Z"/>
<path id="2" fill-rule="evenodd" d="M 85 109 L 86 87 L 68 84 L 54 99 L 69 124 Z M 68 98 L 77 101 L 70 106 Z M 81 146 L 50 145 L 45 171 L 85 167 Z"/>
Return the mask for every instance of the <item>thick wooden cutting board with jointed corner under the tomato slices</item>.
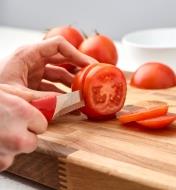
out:
<path id="1" fill-rule="evenodd" d="M 161 100 L 176 113 L 176 88 L 128 87 L 126 104 Z M 59 190 L 176 189 L 176 123 L 146 130 L 116 119 L 67 115 L 39 136 L 38 149 L 16 158 L 10 172 Z"/>

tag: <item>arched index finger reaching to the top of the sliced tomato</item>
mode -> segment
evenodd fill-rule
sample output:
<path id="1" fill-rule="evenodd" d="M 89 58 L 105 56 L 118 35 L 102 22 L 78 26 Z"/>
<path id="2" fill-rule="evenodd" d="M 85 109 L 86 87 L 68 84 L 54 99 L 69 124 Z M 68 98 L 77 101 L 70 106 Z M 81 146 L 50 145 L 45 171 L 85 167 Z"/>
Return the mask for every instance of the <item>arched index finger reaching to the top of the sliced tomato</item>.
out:
<path id="1" fill-rule="evenodd" d="M 61 36 L 43 40 L 33 46 L 33 49 L 35 49 L 36 52 L 45 59 L 60 53 L 69 60 L 77 63 L 77 66 L 80 67 L 97 63 L 97 60 L 81 53 Z"/>

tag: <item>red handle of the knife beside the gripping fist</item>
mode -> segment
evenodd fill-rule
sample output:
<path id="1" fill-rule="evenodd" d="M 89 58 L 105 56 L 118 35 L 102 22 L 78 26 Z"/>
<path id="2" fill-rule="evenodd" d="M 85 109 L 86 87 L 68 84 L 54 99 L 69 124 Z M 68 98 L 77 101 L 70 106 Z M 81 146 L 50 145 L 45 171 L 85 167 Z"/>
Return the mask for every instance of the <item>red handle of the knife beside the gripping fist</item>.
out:
<path id="1" fill-rule="evenodd" d="M 43 113 L 48 122 L 52 120 L 56 108 L 56 96 L 36 99 L 31 104 Z"/>

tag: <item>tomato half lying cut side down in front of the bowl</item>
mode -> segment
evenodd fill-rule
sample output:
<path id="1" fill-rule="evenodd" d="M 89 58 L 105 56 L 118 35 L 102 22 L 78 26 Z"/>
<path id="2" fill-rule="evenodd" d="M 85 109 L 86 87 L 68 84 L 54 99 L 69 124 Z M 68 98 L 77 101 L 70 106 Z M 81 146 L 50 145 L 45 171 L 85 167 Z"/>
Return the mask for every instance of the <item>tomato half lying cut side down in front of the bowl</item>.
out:
<path id="1" fill-rule="evenodd" d="M 133 74 L 130 84 L 138 88 L 162 89 L 176 85 L 174 71 L 159 62 L 148 62 Z"/>

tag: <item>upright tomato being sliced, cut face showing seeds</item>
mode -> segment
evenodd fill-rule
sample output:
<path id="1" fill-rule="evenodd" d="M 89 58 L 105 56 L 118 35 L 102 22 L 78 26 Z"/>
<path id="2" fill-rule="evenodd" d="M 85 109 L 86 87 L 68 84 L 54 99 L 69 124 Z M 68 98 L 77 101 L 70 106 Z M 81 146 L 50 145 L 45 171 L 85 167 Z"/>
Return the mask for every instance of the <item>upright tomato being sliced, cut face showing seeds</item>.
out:
<path id="1" fill-rule="evenodd" d="M 82 91 L 85 107 L 81 111 L 89 119 L 111 118 L 122 108 L 126 97 L 126 80 L 115 66 L 102 63 L 88 66 L 76 78 L 72 89 Z"/>

